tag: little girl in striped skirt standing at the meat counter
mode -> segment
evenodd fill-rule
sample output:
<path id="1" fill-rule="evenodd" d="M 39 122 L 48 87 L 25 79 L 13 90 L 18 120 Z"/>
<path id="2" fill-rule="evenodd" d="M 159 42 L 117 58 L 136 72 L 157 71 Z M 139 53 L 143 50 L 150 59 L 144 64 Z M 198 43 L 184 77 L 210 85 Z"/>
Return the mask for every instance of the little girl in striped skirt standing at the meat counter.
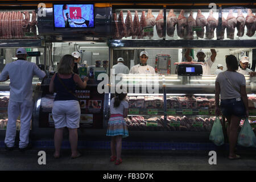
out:
<path id="1" fill-rule="evenodd" d="M 110 118 L 106 135 L 112 137 L 110 161 L 115 161 L 117 165 L 122 163 L 122 138 L 129 136 L 126 122 L 123 119 L 127 117 L 129 107 L 126 96 L 127 93 L 116 93 L 110 101 Z"/>

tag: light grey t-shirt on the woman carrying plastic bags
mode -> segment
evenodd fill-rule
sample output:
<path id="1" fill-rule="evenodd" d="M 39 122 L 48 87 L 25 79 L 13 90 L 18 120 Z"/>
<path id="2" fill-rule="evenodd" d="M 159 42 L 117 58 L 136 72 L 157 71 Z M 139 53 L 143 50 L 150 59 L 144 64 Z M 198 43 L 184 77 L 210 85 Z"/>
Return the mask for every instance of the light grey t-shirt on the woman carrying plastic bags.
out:
<path id="1" fill-rule="evenodd" d="M 225 75 L 223 75 L 223 73 Z M 229 81 L 232 82 L 234 87 L 229 83 L 226 77 L 229 78 Z M 230 99 L 230 98 L 240 98 L 241 94 L 237 90 L 240 90 L 240 87 L 243 85 L 245 86 L 245 76 L 238 72 L 230 72 L 225 71 L 218 74 L 216 81 L 220 84 L 220 95 L 221 99 Z"/>

